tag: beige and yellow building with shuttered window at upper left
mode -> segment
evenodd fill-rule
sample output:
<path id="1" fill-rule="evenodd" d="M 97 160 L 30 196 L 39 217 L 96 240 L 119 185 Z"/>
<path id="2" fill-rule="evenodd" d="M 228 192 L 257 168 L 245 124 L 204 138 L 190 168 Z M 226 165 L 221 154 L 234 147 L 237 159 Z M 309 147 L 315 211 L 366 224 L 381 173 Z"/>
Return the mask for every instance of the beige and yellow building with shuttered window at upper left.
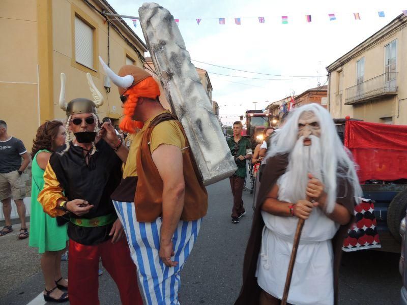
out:
<path id="1" fill-rule="evenodd" d="M 60 74 L 66 100 L 91 98 L 86 73 L 104 96 L 99 117 L 122 115 L 117 87 L 105 78 L 100 55 L 113 71 L 142 67 L 146 45 L 105 0 L 2 0 L 0 2 L 0 119 L 31 150 L 38 126 L 65 118 L 59 107 Z"/>

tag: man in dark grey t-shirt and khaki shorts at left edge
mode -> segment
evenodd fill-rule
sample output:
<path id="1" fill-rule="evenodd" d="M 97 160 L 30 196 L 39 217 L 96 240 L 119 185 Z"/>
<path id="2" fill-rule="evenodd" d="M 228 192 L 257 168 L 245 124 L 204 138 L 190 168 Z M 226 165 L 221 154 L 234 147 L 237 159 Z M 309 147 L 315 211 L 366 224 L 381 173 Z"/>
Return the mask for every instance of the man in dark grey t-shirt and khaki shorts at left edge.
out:
<path id="1" fill-rule="evenodd" d="M 21 163 L 21 158 L 23 162 Z M 6 225 L 0 231 L 0 236 L 13 231 L 11 227 L 11 198 L 17 206 L 17 213 L 21 221 L 19 239 L 28 237 L 25 224 L 25 184 L 21 181 L 21 174 L 30 164 L 30 156 L 21 140 L 7 134 L 7 124 L 0 120 L 0 200 L 3 203 L 3 213 Z"/>

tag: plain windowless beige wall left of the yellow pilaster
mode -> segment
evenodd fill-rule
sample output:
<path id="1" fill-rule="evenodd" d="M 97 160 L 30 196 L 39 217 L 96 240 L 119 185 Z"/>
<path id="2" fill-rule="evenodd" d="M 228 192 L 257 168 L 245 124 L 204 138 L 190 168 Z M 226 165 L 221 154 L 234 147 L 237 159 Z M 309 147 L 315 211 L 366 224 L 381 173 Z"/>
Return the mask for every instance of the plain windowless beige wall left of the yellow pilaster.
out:
<path id="1" fill-rule="evenodd" d="M 39 120 L 36 1 L 0 1 L 0 28 L 0 119 L 30 149 Z"/>

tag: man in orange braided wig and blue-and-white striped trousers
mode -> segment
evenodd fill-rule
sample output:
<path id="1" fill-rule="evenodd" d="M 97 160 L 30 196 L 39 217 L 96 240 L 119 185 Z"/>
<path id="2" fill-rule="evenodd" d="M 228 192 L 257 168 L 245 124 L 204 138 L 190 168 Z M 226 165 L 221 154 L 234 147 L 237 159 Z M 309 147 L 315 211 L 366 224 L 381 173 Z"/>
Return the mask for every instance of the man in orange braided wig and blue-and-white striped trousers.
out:
<path id="1" fill-rule="evenodd" d="M 196 241 L 208 195 L 181 123 L 158 100 L 158 83 L 126 65 L 114 74 L 125 117 L 135 133 L 120 186 L 111 195 L 147 304 L 179 304 L 180 272 Z"/>

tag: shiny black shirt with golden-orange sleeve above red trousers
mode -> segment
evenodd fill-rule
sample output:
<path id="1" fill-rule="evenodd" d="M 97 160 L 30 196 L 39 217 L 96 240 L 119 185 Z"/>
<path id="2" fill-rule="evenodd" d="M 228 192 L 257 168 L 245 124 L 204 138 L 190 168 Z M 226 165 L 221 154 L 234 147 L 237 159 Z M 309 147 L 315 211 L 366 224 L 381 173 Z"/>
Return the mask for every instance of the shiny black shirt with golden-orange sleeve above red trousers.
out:
<path id="1" fill-rule="evenodd" d="M 96 152 L 89 156 L 86 164 L 83 148 L 70 142 L 70 148 L 63 155 L 66 146 L 62 146 L 49 159 L 44 173 L 44 188 L 38 195 L 38 201 L 44 211 L 51 217 L 92 219 L 95 217 L 115 215 L 110 195 L 118 187 L 122 173 L 122 161 L 114 150 L 104 141 L 96 143 Z M 81 217 L 73 213 L 65 214 L 57 209 L 57 200 L 70 201 L 84 199 L 94 207 Z M 97 245 L 111 236 L 112 223 L 98 227 L 82 227 L 69 222 L 69 238 L 82 245 Z"/>

